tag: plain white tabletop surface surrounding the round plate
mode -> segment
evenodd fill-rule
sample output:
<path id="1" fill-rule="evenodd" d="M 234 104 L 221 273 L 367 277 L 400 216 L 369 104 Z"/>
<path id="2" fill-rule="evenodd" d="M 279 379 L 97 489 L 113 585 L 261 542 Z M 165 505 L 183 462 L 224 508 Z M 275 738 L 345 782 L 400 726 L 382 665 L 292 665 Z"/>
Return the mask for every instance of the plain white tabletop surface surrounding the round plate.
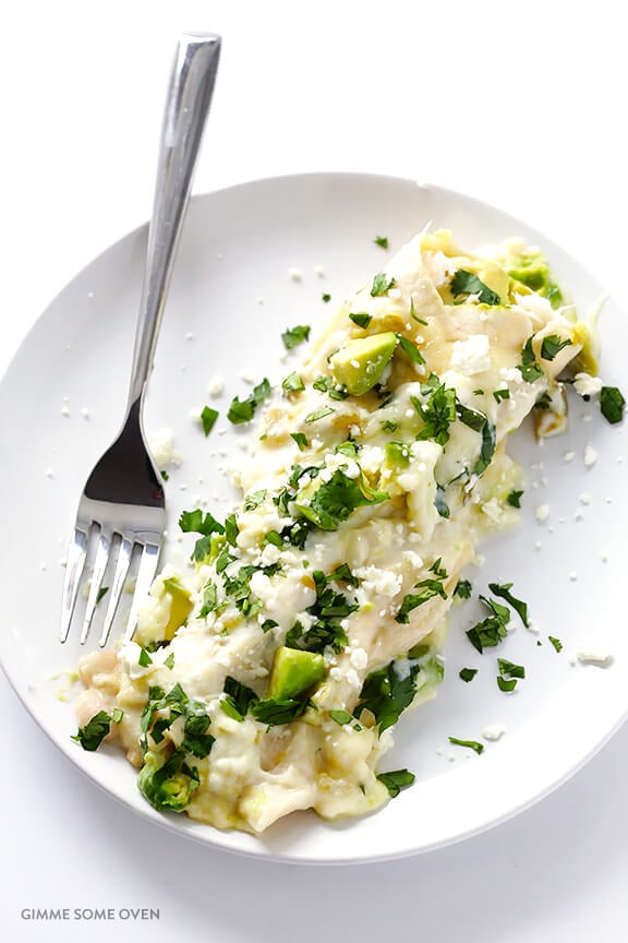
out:
<path id="1" fill-rule="evenodd" d="M 620 297 L 628 64 L 618 9 L 5 4 L 0 371 L 63 285 L 146 220 L 168 70 L 185 28 L 224 36 L 196 192 L 302 170 L 416 177 L 526 218 Z M 11 592 L 1 576 L 0 588 Z M 404 861 L 328 869 L 219 854 L 140 821 L 61 756 L 3 677 L 0 715 L 4 939 L 628 936 L 626 728 L 559 791 L 487 834 Z M 45 907 L 160 916 L 21 918 Z"/>

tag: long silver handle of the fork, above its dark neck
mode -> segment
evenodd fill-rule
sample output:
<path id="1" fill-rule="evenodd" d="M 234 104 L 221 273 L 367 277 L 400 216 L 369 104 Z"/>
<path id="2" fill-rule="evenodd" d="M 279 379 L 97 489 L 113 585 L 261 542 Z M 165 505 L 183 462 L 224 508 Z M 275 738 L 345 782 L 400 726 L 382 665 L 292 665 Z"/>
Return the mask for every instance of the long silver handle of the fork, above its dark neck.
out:
<path id="1" fill-rule="evenodd" d="M 157 334 L 219 57 L 220 37 L 215 34 L 184 34 L 179 40 L 161 126 L 146 268 L 133 351 L 129 413 L 134 406 L 141 406 L 153 368 Z"/>

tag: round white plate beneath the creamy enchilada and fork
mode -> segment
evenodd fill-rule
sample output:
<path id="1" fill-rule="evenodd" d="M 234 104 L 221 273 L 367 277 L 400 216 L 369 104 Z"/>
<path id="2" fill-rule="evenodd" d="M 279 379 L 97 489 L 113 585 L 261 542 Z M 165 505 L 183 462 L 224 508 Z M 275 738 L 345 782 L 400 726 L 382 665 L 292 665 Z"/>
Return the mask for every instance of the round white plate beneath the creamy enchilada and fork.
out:
<path id="1" fill-rule="evenodd" d="M 580 264 L 523 223 L 406 180 L 288 177 L 192 201 L 146 416 L 148 430 L 176 431 L 183 455 L 167 485 L 172 523 L 198 493 L 218 517 L 235 497 L 225 468 L 241 455 L 238 441 L 245 433 L 219 434 L 228 425 L 221 418 L 206 440 L 190 418 L 194 407 L 212 402 L 209 380 L 225 377 L 224 397 L 213 403 L 225 416 L 230 398 L 250 390 L 243 374 L 286 375 L 298 351 L 281 361 L 281 331 L 319 322 L 385 267 L 375 236 L 387 236 L 394 251 L 430 223 L 451 228 L 468 248 L 511 235 L 540 243 L 581 313 L 603 294 Z M 262 838 L 222 833 L 183 815 L 159 815 L 138 795 L 121 754 L 106 748 L 85 753 L 70 739 L 76 724 L 71 705 L 59 699 L 68 684 L 55 676 L 73 668 L 78 646 L 57 642 L 61 561 L 81 488 L 121 420 L 145 237 L 145 229 L 130 234 L 76 276 L 41 315 L 0 386 L 7 535 L 0 655 L 34 718 L 80 769 L 138 813 L 208 844 L 271 858 L 339 862 L 425 851 L 495 825 L 554 789 L 606 741 L 628 708 L 628 635 L 619 602 L 628 572 L 625 430 L 576 397 L 565 437 L 539 446 L 526 432 L 512 443 L 529 478 L 522 523 L 487 544 L 485 565 L 469 574 L 480 592 L 490 581 L 512 582 L 539 633 L 519 625 L 499 650 L 481 656 L 464 636 L 479 618 L 475 604 L 457 610 L 438 696 L 403 718 L 385 759 L 384 768 L 407 766 L 416 783 L 386 808 L 340 825 L 298 814 Z M 302 277 L 290 277 L 290 268 Z M 323 293 L 331 295 L 330 306 Z M 601 334 L 609 384 L 626 379 L 626 324 L 608 302 Z M 588 444 L 597 454 L 590 467 L 583 463 Z M 535 518 L 540 504 L 550 506 L 543 524 Z M 176 540 L 170 549 L 183 552 Z M 561 653 L 547 635 L 561 640 Z M 573 664 L 581 643 L 612 652 L 613 666 Z M 527 668 L 511 695 L 497 689 L 497 655 Z M 471 683 L 458 677 L 463 666 L 480 668 Z M 449 736 L 482 740 L 494 724 L 506 733 L 486 742 L 481 756 L 448 742 Z"/>

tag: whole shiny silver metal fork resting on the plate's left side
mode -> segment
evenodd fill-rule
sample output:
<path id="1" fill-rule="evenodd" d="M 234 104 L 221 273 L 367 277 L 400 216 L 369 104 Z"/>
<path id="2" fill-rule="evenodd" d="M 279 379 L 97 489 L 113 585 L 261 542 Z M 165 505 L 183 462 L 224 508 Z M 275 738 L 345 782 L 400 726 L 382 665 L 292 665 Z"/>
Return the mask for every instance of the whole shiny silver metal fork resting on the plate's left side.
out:
<path id="1" fill-rule="evenodd" d="M 157 570 L 166 508 L 162 479 L 146 444 L 142 409 L 219 56 L 220 37 L 214 34 L 183 35 L 179 40 L 161 128 L 126 414 L 122 431 L 96 464 L 78 503 L 63 587 L 61 642 L 70 632 L 90 544 L 96 542 L 96 551 L 81 644 L 89 634 L 109 565 L 114 572 L 101 646 L 109 637 L 136 545 L 141 558 L 125 642 L 133 637 L 140 606 Z"/>

